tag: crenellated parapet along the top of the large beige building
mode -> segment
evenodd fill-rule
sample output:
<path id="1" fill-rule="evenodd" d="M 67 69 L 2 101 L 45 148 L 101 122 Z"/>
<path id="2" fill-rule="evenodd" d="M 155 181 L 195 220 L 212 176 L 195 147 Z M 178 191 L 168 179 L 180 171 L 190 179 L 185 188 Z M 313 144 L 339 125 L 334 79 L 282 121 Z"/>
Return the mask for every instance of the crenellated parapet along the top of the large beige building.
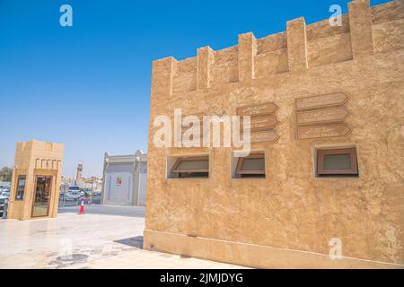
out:
<path id="1" fill-rule="evenodd" d="M 329 19 L 306 25 L 304 18 L 286 22 L 286 30 L 256 39 L 239 35 L 238 44 L 221 50 L 198 48 L 197 57 L 154 61 L 152 95 L 171 96 L 227 83 L 248 85 L 274 74 L 305 70 L 374 53 L 404 48 L 404 2 L 396 0 L 370 7 L 369 0 L 348 4 L 341 25 Z"/>

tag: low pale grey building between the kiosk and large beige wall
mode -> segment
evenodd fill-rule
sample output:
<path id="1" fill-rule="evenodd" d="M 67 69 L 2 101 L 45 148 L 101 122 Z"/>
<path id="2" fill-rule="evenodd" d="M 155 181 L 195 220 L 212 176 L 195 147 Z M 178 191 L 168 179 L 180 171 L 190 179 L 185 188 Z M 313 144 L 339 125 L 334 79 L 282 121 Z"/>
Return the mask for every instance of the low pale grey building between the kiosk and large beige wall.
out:
<path id="1" fill-rule="evenodd" d="M 101 204 L 145 206 L 147 155 L 106 152 L 102 176 Z"/>

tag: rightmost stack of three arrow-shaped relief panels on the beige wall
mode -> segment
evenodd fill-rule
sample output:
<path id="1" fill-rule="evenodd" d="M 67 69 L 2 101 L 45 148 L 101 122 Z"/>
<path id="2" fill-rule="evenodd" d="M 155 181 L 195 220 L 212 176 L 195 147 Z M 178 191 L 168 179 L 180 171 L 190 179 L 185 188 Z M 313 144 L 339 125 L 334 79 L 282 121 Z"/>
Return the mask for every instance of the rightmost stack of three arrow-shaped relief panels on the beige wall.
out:
<path id="1" fill-rule="evenodd" d="M 347 100 L 343 92 L 296 99 L 297 139 L 349 135 L 351 128 L 344 123 Z"/>

